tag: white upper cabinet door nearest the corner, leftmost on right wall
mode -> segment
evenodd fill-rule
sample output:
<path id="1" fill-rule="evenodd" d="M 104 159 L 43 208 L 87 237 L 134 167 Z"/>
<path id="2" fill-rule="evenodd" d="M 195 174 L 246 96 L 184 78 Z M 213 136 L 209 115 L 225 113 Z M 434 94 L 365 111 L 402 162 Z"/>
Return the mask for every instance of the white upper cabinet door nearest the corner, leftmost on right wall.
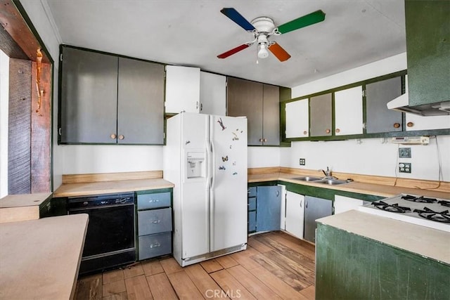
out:
<path id="1" fill-rule="evenodd" d="M 286 103 L 286 138 L 306 138 L 309 136 L 308 99 Z"/>

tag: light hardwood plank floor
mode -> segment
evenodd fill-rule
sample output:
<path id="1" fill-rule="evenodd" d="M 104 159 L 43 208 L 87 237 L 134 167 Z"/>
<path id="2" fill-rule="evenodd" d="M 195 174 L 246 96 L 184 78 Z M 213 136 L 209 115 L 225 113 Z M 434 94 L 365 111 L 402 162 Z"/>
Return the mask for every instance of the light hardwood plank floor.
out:
<path id="1" fill-rule="evenodd" d="M 79 278 L 75 299 L 314 299 L 314 245 L 277 231 L 181 268 L 172 257 Z"/>

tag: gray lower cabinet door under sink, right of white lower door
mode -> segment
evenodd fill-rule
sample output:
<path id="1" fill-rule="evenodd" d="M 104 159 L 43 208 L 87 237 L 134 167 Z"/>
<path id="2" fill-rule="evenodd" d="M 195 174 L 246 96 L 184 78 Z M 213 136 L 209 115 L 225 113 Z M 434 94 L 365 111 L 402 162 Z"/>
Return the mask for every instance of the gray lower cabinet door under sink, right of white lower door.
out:
<path id="1" fill-rule="evenodd" d="M 316 219 L 331 216 L 331 200 L 306 196 L 304 207 L 304 240 L 316 242 Z"/>

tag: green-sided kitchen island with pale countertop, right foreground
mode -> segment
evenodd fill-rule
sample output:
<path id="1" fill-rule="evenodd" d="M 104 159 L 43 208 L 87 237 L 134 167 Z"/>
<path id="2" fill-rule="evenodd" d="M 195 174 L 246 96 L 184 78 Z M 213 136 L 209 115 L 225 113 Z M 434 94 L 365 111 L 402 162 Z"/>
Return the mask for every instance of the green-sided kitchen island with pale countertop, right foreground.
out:
<path id="1" fill-rule="evenodd" d="M 316 299 L 449 298 L 449 232 L 356 210 L 316 221 Z"/>

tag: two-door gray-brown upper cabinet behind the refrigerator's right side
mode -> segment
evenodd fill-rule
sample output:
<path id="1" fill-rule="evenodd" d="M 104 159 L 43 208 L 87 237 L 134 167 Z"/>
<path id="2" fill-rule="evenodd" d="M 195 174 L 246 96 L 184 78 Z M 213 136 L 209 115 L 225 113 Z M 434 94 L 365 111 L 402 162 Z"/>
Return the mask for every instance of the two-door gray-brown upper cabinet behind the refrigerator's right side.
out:
<path id="1" fill-rule="evenodd" d="M 248 119 L 248 145 L 279 145 L 279 87 L 229 77 L 227 115 Z"/>

